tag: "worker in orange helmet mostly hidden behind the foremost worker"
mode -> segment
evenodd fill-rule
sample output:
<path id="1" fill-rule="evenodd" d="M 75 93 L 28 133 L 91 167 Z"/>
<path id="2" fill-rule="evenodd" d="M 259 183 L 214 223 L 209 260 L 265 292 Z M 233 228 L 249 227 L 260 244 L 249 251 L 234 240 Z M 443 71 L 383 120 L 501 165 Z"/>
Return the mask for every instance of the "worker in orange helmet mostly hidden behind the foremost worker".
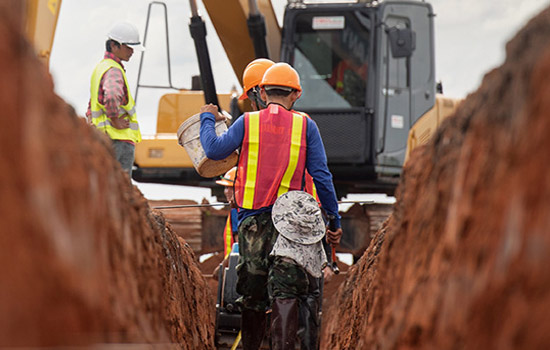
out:
<path id="1" fill-rule="evenodd" d="M 243 93 L 239 97 L 239 100 L 248 98 L 255 111 L 259 111 L 266 107 L 266 102 L 260 96 L 261 89 L 259 85 L 265 71 L 274 64 L 275 63 L 271 60 L 258 58 L 250 62 L 243 72 Z M 305 174 L 304 190 L 317 198 L 313 179 L 307 172 Z M 326 241 L 324 242 L 326 243 Z M 325 249 L 327 249 L 327 247 L 325 247 Z M 328 257 L 330 257 L 330 255 Z M 218 269 L 219 267 L 217 267 L 213 273 L 214 278 L 218 277 Z M 332 269 L 327 265 L 327 267 L 323 269 L 324 281 L 329 282 L 333 275 Z M 301 296 L 298 335 L 300 338 L 300 348 L 302 350 L 317 350 L 320 331 L 320 320 L 318 315 L 321 305 L 320 299 L 322 297 L 320 284 L 323 280 L 314 278 L 311 275 L 308 277 L 310 278 L 308 283 L 309 292 L 307 295 Z"/>

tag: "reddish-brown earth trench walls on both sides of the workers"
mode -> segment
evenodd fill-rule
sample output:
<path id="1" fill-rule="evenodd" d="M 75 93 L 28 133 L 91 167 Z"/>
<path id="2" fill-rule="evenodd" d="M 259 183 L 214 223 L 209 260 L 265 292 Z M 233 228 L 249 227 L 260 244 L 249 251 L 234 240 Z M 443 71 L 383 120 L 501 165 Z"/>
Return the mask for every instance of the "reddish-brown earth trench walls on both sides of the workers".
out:
<path id="1" fill-rule="evenodd" d="M 53 93 L 21 23 L 0 4 L 0 347 L 213 349 L 196 242 Z M 323 349 L 550 347 L 550 10 L 506 51 L 413 152 L 392 216 L 331 282 Z"/>

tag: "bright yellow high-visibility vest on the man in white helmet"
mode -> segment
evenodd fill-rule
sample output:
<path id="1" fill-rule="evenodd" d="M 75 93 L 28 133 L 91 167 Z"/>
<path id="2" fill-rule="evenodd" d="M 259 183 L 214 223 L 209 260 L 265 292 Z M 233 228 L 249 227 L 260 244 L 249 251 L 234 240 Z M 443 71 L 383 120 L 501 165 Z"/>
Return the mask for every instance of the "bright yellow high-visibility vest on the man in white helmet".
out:
<path id="1" fill-rule="evenodd" d="M 101 83 L 101 77 L 111 68 L 120 69 L 122 76 L 124 77 L 124 84 L 126 85 L 126 91 L 128 92 L 128 103 L 124 106 L 120 106 L 118 115 L 126 115 L 124 118 L 130 122 L 130 127 L 126 129 L 117 129 L 111 125 L 111 120 L 105 114 L 105 106 L 99 103 L 99 84 Z M 120 64 L 112 59 L 104 59 L 98 63 L 92 73 L 92 81 L 90 84 L 90 110 L 92 112 L 92 123 L 96 128 L 105 132 L 113 140 L 129 140 L 134 143 L 141 141 L 141 132 L 139 131 L 139 125 L 137 122 L 137 115 L 135 110 L 135 102 L 130 94 L 130 86 L 128 86 L 128 80 L 126 79 L 126 73 Z"/>

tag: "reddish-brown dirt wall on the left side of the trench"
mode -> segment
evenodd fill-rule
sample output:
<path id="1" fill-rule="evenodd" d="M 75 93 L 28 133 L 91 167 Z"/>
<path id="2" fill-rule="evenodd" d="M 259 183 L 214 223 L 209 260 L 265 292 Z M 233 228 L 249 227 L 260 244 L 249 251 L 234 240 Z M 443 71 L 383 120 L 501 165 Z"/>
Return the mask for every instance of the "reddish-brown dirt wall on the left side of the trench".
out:
<path id="1" fill-rule="evenodd" d="M 21 3 L 0 5 L 0 347 L 213 348 L 193 252 L 52 92 Z"/>

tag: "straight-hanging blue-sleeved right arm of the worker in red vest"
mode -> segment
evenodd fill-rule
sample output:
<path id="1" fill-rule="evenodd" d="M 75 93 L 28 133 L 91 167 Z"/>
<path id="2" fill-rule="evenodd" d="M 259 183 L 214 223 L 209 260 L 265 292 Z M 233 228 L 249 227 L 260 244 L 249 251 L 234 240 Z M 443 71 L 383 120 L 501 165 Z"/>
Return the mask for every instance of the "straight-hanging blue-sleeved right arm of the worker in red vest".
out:
<path id="1" fill-rule="evenodd" d="M 313 177 L 313 182 L 317 188 L 317 195 L 327 212 L 328 216 L 333 217 L 334 225 L 337 229 L 340 228 L 340 215 L 338 215 L 338 200 L 336 199 L 336 191 L 332 183 L 332 174 L 328 169 L 327 156 L 325 146 L 321 139 L 321 134 L 317 128 L 317 124 L 308 118 L 307 119 L 307 157 L 306 168 L 309 174 Z M 330 237 L 329 242 L 331 241 Z"/>

